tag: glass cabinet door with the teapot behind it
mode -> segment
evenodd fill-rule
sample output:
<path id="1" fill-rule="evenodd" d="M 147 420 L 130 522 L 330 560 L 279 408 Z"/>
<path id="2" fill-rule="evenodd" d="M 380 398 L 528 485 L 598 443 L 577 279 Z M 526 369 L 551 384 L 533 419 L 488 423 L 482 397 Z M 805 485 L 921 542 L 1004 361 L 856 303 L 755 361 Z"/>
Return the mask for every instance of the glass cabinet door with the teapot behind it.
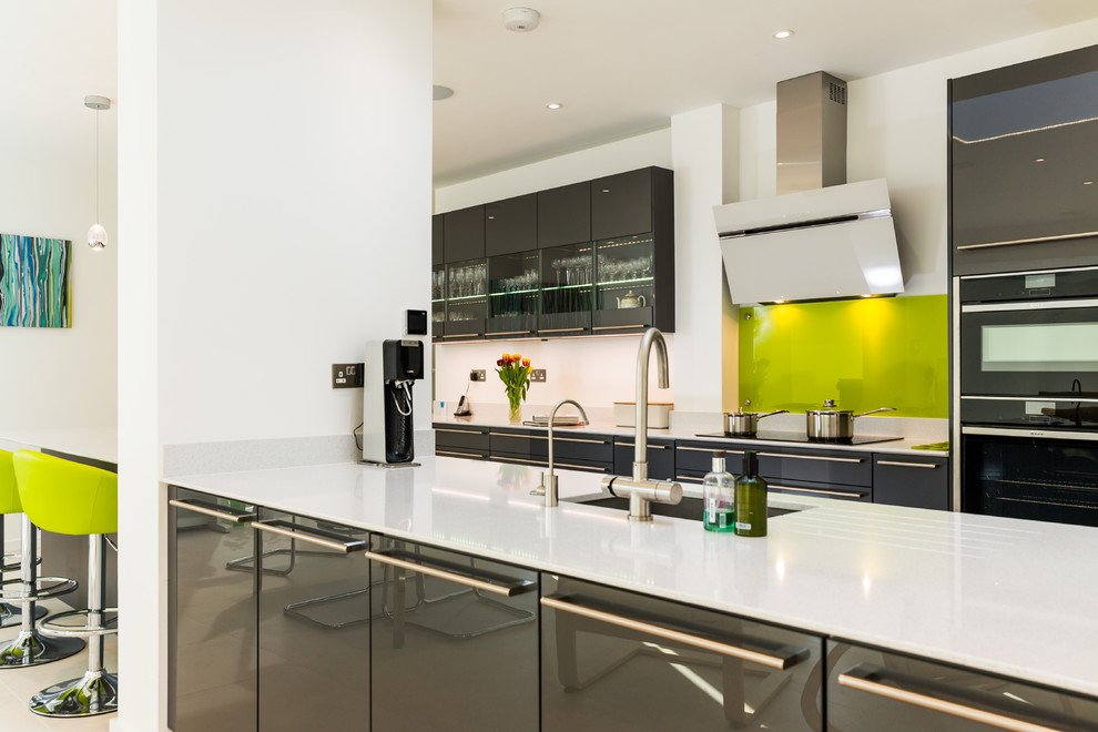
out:
<path id="1" fill-rule="evenodd" d="M 594 264 L 594 333 L 651 326 L 657 296 L 654 236 L 597 242 Z"/>

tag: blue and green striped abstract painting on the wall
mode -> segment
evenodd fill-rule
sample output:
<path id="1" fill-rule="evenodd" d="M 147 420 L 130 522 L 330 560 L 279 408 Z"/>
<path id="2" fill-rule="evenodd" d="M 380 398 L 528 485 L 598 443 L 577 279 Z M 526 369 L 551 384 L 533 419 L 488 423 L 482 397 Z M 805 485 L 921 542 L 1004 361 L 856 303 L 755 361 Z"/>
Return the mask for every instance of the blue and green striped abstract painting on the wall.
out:
<path id="1" fill-rule="evenodd" d="M 72 242 L 0 234 L 0 326 L 69 327 Z"/>

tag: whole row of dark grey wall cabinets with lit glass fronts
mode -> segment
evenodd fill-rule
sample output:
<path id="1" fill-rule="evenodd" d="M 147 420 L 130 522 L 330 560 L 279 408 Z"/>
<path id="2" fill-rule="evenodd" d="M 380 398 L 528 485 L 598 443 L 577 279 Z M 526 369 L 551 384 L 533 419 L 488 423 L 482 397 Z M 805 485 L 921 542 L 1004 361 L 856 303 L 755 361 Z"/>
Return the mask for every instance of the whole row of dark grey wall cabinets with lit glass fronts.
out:
<path id="1" fill-rule="evenodd" d="M 447 272 L 435 277 L 445 279 L 446 306 L 434 314 L 435 340 L 674 331 L 669 170 L 643 167 L 444 217 Z"/>

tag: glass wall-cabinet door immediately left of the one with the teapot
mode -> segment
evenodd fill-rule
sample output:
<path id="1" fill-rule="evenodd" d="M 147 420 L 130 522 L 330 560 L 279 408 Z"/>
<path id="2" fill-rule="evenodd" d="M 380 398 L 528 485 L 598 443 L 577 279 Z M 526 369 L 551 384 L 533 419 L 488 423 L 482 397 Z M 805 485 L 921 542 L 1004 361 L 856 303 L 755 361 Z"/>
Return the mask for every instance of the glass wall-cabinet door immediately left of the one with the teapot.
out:
<path id="1" fill-rule="evenodd" d="M 549 336 L 591 333 L 594 279 L 590 242 L 541 250 L 541 316 L 538 333 Z"/>

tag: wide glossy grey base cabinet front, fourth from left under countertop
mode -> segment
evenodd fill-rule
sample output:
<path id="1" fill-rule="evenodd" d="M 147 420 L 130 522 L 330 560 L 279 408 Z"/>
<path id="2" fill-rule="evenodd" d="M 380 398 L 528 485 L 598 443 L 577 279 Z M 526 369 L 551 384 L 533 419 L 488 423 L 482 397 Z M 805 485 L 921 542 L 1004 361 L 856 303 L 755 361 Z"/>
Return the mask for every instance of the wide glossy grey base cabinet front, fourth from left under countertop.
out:
<path id="1" fill-rule="evenodd" d="M 555 575 L 541 588 L 543 732 L 823 729 L 819 636 Z"/>

